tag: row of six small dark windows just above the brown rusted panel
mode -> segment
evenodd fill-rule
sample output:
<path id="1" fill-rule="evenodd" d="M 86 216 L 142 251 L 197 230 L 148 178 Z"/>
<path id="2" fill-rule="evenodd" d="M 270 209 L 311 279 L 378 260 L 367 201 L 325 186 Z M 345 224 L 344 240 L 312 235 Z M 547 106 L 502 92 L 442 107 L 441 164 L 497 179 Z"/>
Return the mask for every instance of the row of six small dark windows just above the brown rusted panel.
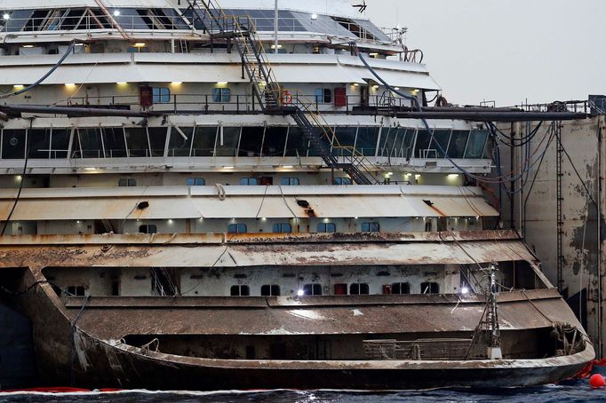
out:
<path id="1" fill-rule="evenodd" d="M 280 286 L 275 284 L 267 284 L 261 287 L 261 296 L 280 296 Z M 363 296 L 369 295 L 371 288 L 368 283 L 354 283 L 349 285 L 347 293 L 347 284 L 335 284 L 335 296 Z M 440 294 L 440 284 L 437 282 L 427 281 L 421 283 L 421 294 Z M 305 284 L 299 291 L 299 296 L 322 296 L 323 286 L 318 283 Z M 406 295 L 411 294 L 411 283 L 395 282 L 383 286 L 383 294 Z M 251 296 L 251 288 L 246 285 L 235 285 L 230 289 L 231 296 Z"/>

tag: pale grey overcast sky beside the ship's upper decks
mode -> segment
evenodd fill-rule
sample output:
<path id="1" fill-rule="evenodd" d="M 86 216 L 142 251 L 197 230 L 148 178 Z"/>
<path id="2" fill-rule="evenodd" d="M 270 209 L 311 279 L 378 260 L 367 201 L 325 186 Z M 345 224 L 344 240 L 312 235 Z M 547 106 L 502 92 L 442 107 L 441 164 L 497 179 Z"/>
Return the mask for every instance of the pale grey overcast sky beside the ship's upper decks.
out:
<path id="1" fill-rule="evenodd" d="M 606 94 L 606 0 L 367 0 L 379 27 L 408 44 L 449 101 L 498 106 Z"/>

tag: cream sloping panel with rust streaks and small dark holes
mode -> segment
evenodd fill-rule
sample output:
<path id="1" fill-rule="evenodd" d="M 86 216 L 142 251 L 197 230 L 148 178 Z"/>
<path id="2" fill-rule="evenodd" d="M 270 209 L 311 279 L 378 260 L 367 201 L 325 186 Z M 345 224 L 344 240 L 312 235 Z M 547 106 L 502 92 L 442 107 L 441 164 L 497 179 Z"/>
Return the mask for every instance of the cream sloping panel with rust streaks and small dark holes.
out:
<path id="1" fill-rule="evenodd" d="M 323 186 L 293 186 L 299 194 L 280 192 L 280 186 L 267 187 L 267 193 L 236 190 L 221 200 L 214 186 L 192 192 L 187 187 L 24 189 L 13 220 L 75 219 L 194 219 L 194 218 L 307 218 L 314 217 L 497 217 L 498 211 L 472 189 L 434 186 L 440 190 L 421 189 L 413 193 L 404 186 L 390 186 L 383 192 L 326 192 Z M 231 187 L 231 186 L 230 186 Z M 247 186 L 251 187 L 251 186 Z M 265 186 L 259 186 L 265 188 Z M 306 188 L 309 187 L 309 188 Z M 332 186 L 335 187 L 335 186 Z M 365 187 L 365 186 L 363 186 Z M 409 186 L 417 187 L 417 186 Z M 427 186 L 420 186 L 427 187 Z M 446 189 L 454 187 L 453 189 Z M 271 188 L 271 191 L 269 190 Z M 170 194 L 169 191 L 174 191 Z M 295 189 L 294 191 L 297 191 Z M 0 190 L 0 217 L 12 209 L 14 190 Z M 303 208 L 299 201 L 307 201 Z M 137 209 L 141 201 L 148 207 Z M 431 207 L 430 207 L 431 204 Z"/>

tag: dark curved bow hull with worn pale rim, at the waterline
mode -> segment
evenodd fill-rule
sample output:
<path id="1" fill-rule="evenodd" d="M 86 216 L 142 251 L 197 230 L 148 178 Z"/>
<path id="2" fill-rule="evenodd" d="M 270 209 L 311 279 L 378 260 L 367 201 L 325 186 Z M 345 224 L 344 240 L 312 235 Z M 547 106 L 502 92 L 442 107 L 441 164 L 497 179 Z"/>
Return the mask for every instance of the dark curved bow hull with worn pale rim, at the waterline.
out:
<path id="1" fill-rule="evenodd" d="M 36 281 L 42 282 L 30 290 L 28 298 L 20 300 L 20 306 L 34 321 L 40 372 L 47 383 L 73 380 L 78 385 L 90 387 L 173 390 L 512 387 L 560 381 L 575 375 L 594 359 L 593 346 L 588 342 L 583 352 L 544 360 L 293 361 L 183 357 L 141 350 L 117 339 L 95 336 L 96 332 L 102 333 L 101 329 L 84 325 L 84 321 L 79 325 L 79 320 L 90 314 L 84 305 L 84 310 L 68 312 L 52 287 L 44 282 L 39 270 L 29 270 L 22 279 L 23 285 Z M 527 316 L 523 312 L 536 310 L 532 301 L 536 299 L 538 304 L 541 294 L 549 292 L 553 297 L 540 302 L 541 315 L 556 314 L 557 318 L 553 319 L 578 326 L 574 315 L 554 290 L 527 291 L 523 298 L 513 298 L 510 303 L 521 312 L 518 326 L 524 321 L 528 328 L 541 325 L 537 323 L 536 315 Z M 106 310 L 112 312 L 111 308 Z M 435 312 L 444 310 L 450 311 L 451 305 L 435 305 Z M 110 333 L 119 334 L 118 327 L 116 325 Z"/>

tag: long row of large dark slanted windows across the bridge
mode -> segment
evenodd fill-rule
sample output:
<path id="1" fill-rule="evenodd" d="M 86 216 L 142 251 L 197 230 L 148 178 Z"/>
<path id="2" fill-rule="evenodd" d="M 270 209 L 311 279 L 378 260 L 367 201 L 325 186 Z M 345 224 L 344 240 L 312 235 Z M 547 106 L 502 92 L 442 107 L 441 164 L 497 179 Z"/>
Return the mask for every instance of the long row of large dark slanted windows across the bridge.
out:
<path id="1" fill-rule="evenodd" d="M 331 151 L 388 158 L 490 158 L 485 130 L 427 130 L 379 127 L 333 128 Z M 298 127 L 124 127 L 90 129 L 2 130 L 0 155 L 28 157 L 305 157 L 318 156 Z M 168 141 L 167 141 L 168 138 Z"/>

